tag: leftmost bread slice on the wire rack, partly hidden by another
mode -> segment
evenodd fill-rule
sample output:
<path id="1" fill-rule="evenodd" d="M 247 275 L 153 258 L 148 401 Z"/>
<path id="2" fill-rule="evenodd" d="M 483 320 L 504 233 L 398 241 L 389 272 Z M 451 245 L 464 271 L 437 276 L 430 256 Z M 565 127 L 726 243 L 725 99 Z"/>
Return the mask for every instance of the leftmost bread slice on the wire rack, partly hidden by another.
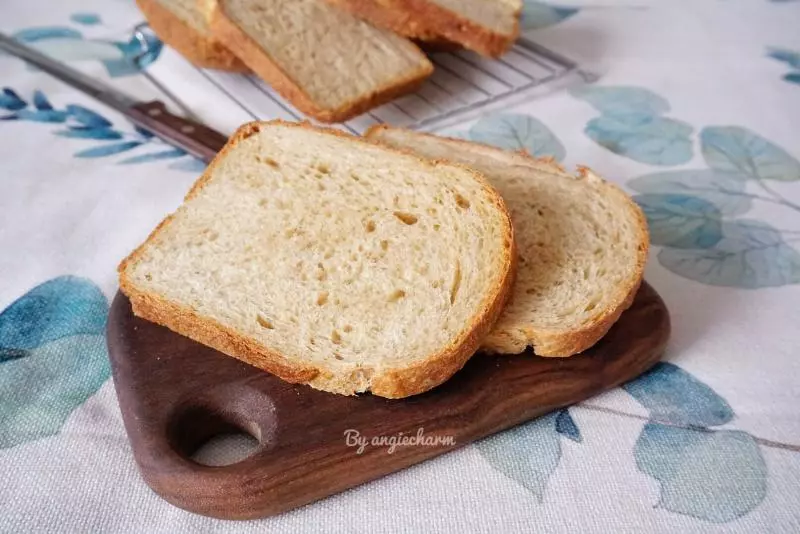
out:
<path id="1" fill-rule="evenodd" d="M 196 0 L 136 0 L 136 5 L 159 39 L 193 65 L 232 72 L 249 70 L 211 36 Z"/>

